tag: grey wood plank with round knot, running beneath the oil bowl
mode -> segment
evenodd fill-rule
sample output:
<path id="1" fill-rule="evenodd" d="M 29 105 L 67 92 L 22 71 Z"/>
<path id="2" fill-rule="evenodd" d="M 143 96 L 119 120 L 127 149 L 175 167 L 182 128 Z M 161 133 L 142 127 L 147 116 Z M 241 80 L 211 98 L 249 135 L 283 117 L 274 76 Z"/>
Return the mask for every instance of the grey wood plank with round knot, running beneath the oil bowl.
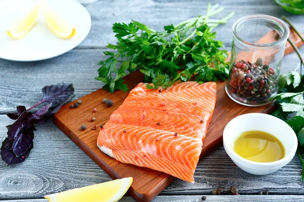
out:
<path id="1" fill-rule="evenodd" d="M 6 125 L 13 121 L 0 115 L 0 142 L 6 137 Z M 40 198 L 46 194 L 111 180 L 83 151 L 52 122 L 37 126 L 34 148 L 29 158 L 6 167 L 0 161 L 0 199 Z M 222 186 L 237 185 L 241 194 L 304 194 L 301 165 L 295 157 L 279 171 L 265 176 L 247 174 L 226 155 L 223 147 L 203 158 L 195 173 L 195 183 L 174 181 L 160 195 L 210 194 Z"/>

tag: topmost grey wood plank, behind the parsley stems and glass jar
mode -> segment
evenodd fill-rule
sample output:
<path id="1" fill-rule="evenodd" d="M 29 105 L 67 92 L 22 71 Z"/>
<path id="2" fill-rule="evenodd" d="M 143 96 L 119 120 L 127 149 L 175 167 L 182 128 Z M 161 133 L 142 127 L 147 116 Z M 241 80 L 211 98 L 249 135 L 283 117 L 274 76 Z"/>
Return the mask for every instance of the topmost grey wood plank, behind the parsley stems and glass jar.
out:
<path id="1" fill-rule="evenodd" d="M 236 12 L 226 24 L 214 30 L 217 32 L 217 39 L 222 40 L 226 46 L 231 46 L 233 23 L 246 15 L 265 14 L 278 18 L 285 15 L 301 32 L 304 32 L 302 17 L 287 13 L 274 1 L 102 0 L 86 5 L 91 14 L 92 28 L 86 40 L 78 48 L 98 48 L 105 47 L 107 43 L 116 43 L 115 34 L 111 30 L 112 24 L 115 22 L 129 23 L 131 20 L 136 20 L 155 30 L 163 30 L 165 25 L 176 25 L 189 18 L 204 15 L 209 2 L 212 5 L 218 3 L 225 8 L 223 12 L 216 15 L 217 19 Z M 240 9 L 240 5 L 242 5 L 242 9 Z"/>

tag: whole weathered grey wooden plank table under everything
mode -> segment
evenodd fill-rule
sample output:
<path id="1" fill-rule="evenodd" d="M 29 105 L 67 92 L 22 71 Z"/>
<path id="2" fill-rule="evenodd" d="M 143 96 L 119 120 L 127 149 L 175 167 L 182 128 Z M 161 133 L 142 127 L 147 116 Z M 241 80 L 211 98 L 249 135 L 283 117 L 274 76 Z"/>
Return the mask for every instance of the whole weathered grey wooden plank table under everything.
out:
<path id="1" fill-rule="evenodd" d="M 188 18 L 206 12 L 208 2 L 219 3 L 225 10 L 223 17 L 232 11 L 236 14 L 225 25 L 214 31 L 217 39 L 231 49 L 233 23 L 250 14 L 268 14 L 290 18 L 304 32 L 304 16 L 286 13 L 271 0 L 100 0 L 86 8 L 91 14 L 92 28 L 88 37 L 72 51 L 54 59 L 41 62 L 12 62 L 0 59 L 0 141 L 6 137 L 6 125 L 11 124 L 5 114 L 15 112 L 15 107 L 30 107 L 41 99 L 41 88 L 60 82 L 71 82 L 75 98 L 102 87 L 94 80 L 97 62 L 105 57 L 108 42 L 115 43 L 111 25 L 114 22 L 130 22 L 132 19 L 153 29 L 178 24 Z M 304 55 L 304 47 L 301 48 Z M 293 70 L 299 63 L 296 54 L 284 58 L 282 72 Z M 34 109 L 36 110 L 36 109 Z M 304 200 L 304 184 L 301 182 L 301 165 L 298 157 L 279 171 L 266 176 L 253 176 L 233 166 L 223 147 L 203 158 L 195 173 L 195 184 L 176 180 L 155 201 L 300 201 Z M 0 200 L 45 202 L 43 196 L 72 188 L 83 187 L 111 180 L 83 151 L 69 140 L 51 121 L 37 126 L 34 148 L 22 164 L 6 167 L 0 161 Z M 211 190 L 222 186 L 229 189 L 237 185 L 240 195 L 212 196 Z M 258 195 L 268 190 L 270 195 Z M 122 201 L 133 201 L 129 196 Z"/>

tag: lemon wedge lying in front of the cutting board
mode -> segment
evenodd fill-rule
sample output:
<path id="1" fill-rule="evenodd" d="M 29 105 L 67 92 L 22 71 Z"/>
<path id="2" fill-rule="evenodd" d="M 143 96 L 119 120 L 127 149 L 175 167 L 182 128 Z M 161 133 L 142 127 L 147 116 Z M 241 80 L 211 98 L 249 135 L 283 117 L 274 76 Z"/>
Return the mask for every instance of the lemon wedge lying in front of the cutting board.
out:
<path id="1" fill-rule="evenodd" d="M 60 193 L 46 195 L 49 202 L 112 202 L 118 201 L 128 191 L 132 177 L 113 180 Z"/>

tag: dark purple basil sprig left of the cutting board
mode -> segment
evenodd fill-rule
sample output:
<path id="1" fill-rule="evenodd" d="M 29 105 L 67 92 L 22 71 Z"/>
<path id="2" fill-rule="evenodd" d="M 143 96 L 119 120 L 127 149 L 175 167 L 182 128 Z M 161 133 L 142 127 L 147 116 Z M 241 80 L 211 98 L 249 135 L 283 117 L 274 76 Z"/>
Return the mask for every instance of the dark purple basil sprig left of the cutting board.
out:
<path id="1" fill-rule="evenodd" d="M 74 95 L 72 84 L 58 84 L 45 86 L 42 89 L 42 100 L 33 107 L 26 110 L 24 106 L 17 107 L 17 114 L 7 114 L 13 120 L 8 125 L 8 137 L 2 142 L 1 158 L 6 164 L 13 165 L 23 162 L 33 148 L 34 124 L 44 124 L 67 103 Z M 29 110 L 41 104 L 47 104 L 32 114 Z"/>

